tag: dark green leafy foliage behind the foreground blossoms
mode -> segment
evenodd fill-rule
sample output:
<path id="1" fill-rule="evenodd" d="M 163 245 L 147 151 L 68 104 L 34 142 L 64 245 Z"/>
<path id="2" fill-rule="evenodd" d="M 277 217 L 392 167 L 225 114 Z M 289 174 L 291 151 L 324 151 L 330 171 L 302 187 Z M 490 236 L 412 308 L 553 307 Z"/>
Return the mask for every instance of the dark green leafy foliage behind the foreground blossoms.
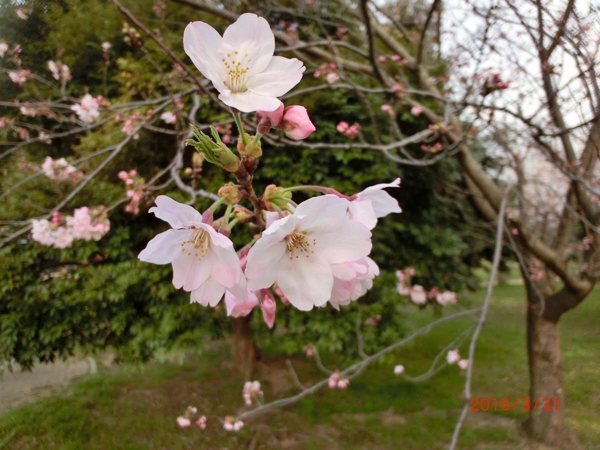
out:
<path id="1" fill-rule="evenodd" d="M 182 33 L 189 20 L 206 20 L 222 31 L 227 23 L 203 16 L 190 8 L 167 4 L 166 17 L 152 12 L 148 0 L 125 2 L 132 13 L 160 32 L 163 40 L 184 60 Z M 21 2 L 19 2 L 21 5 Z M 154 42 L 142 37 L 149 55 L 163 73 L 143 57 L 140 50 L 128 46 L 121 32 L 124 17 L 109 2 L 95 0 L 29 1 L 33 8 L 28 20 L 14 14 L 16 4 L 0 2 L 0 41 L 23 47 L 23 67 L 51 80 L 46 61 L 60 59 L 68 64 L 73 80 L 67 84 L 69 98 L 86 92 L 103 95 L 113 104 L 166 95 L 163 80 L 173 73 L 172 61 Z M 281 16 L 268 17 L 277 23 Z M 289 18 L 288 18 L 289 19 Z M 300 24 L 302 37 L 302 26 Z M 312 26 L 312 25 L 311 25 Z M 313 29 L 314 31 L 314 29 Z M 112 43 L 111 63 L 104 64 L 100 44 Z M 57 56 L 59 55 L 59 56 Z M 11 67 L 7 67 L 11 68 Z M 311 67 L 308 68 L 309 70 Z M 443 68 L 440 68 L 443 70 Z M 20 101 L 36 98 L 58 99 L 59 92 L 40 82 L 27 82 L 22 88 L 8 81 L 2 73 L 0 98 Z M 368 86 L 370 80 L 353 74 L 355 82 Z M 316 85 L 307 74 L 301 86 Z M 175 77 L 174 91 L 190 85 Z M 374 95 L 374 94 L 373 94 Z M 373 98 L 385 103 L 385 95 Z M 341 120 L 359 122 L 366 136 L 379 134 L 389 140 L 389 116 L 377 115 L 377 126 L 370 126 L 365 109 L 355 94 L 342 89 L 325 89 L 293 98 L 310 112 L 317 131 L 308 142 L 347 142 L 335 131 Z M 287 101 L 289 103 L 289 101 Z M 191 98 L 185 98 L 186 109 Z M 145 109 L 140 109 L 145 111 Z M 18 109 L 0 106 L 0 116 L 25 121 Z M 419 119 L 402 113 L 398 125 L 407 134 L 424 127 Z M 197 113 L 199 122 L 227 119 L 215 105 L 202 100 Z M 61 130 L 67 124 L 45 118 L 28 119 L 37 125 Z M 23 147 L 0 160 L 2 191 L 31 176 L 31 169 L 22 169 L 23 161 L 39 167 L 46 155 L 74 159 L 89 155 L 122 139 L 122 124 L 109 121 L 86 134 L 55 139 L 52 146 L 34 144 Z M 15 140 L 6 128 L 2 139 Z M 419 154 L 419 149 L 410 151 Z M 150 178 L 168 164 L 175 152 L 175 139 L 164 134 L 143 131 L 140 139 L 130 142 L 100 175 L 88 184 L 65 211 L 83 205 L 110 205 L 124 196 L 124 185 L 117 178 L 119 170 L 136 168 Z M 397 340 L 403 334 L 403 316 L 398 305 L 405 302 L 395 291 L 395 269 L 413 266 L 418 276 L 415 283 L 426 288 L 437 285 L 463 291 L 475 283 L 472 268 L 479 264 L 487 248 L 475 241 L 472 228 L 463 214 L 470 206 L 452 194 L 451 186 L 460 181 L 455 163 L 444 160 L 430 167 L 407 167 L 391 163 L 380 152 L 362 149 L 322 150 L 263 146 L 264 156 L 256 173 L 257 191 L 266 185 L 296 184 L 328 185 L 352 194 L 379 182 L 389 182 L 398 176 L 400 189 L 391 190 L 404 212 L 391 215 L 373 233 L 373 259 L 382 269 L 373 289 L 349 307 L 335 311 L 331 307 L 316 308 L 303 313 L 278 303 L 275 328 L 270 331 L 260 314 L 254 314 L 253 328 L 259 343 L 274 344 L 285 352 L 296 352 L 312 341 L 322 349 L 355 349 L 356 321 L 380 314 L 383 320 L 374 327 L 363 327 L 367 351 Z M 100 157 L 101 158 L 101 157 Z M 190 164 L 191 149 L 185 154 Z M 89 173 L 98 163 L 92 158 L 83 164 Z M 21 168 L 20 168 L 21 167 Z M 200 187 L 216 191 L 227 174 L 205 164 Z M 72 185 L 53 184 L 38 176 L 23 184 L 0 204 L 2 220 L 25 220 L 40 215 L 40 208 L 52 208 Z M 155 192 L 186 200 L 173 188 Z M 305 199 L 295 194 L 296 202 Z M 208 200 L 195 205 L 202 210 Z M 224 308 L 203 308 L 190 305 L 189 295 L 175 290 L 171 283 L 170 266 L 156 266 L 137 260 L 137 253 L 149 239 L 167 225 L 145 209 L 138 216 L 123 211 L 122 205 L 110 214 L 111 230 L 99 242 L 76 241 L 72 248 L 56 250 L 32 242 L 22 236 L 0 249 L 0 357 L 14 359 L 25 367 L 36 362 L 52 361 L 82 350 L 94 352 L 110 347 L 122 361 L 138 362 L 157 352 L 193 346 L 201 348 L 210 338 L 230 331 Z M 0 226 L 4 232 L 11 226 Z M 243 245 L 250 230 L 234 229 L 232 238 Z"/>

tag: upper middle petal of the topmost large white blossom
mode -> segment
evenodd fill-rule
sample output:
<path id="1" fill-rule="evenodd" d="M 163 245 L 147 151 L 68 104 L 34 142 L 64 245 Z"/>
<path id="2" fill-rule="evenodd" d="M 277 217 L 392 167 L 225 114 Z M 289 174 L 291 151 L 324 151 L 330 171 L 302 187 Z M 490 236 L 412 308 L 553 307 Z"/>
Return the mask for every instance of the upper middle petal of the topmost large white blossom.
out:
<path id="1" fill-rule="evenodd" d="M 242 62 L 250 59 L 248 71 L 250 77 L 262 72 L 275 52 L 275 36 L 269 22 L 251 13 L 242 14 L 238 20 L 227 27 L 223 33 L 223 44 L 224 50 L 231 53 L 237 51 L 239 58 L 244 56 L 246 59 L 245 61 L 242 59 Z M 248 56 L 245 56 L 246 53 Z"/>

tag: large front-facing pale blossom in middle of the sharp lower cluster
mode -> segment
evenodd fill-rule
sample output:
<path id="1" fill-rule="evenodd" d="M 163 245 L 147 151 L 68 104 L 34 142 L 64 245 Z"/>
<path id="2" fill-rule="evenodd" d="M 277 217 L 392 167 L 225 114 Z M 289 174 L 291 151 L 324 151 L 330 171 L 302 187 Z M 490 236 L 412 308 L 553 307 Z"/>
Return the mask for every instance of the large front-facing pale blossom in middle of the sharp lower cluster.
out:
<path id="1" fill-rule="evenodd" d="M 277 282 L 299 310 L 325 304 L 334 284 L 332 265 L 371 251 L 371 233 L 346 217 L 348 205 L 333 194 L 313 197 L 274 221 L 248 253 L 248 287 L 264 289 Z"/>

